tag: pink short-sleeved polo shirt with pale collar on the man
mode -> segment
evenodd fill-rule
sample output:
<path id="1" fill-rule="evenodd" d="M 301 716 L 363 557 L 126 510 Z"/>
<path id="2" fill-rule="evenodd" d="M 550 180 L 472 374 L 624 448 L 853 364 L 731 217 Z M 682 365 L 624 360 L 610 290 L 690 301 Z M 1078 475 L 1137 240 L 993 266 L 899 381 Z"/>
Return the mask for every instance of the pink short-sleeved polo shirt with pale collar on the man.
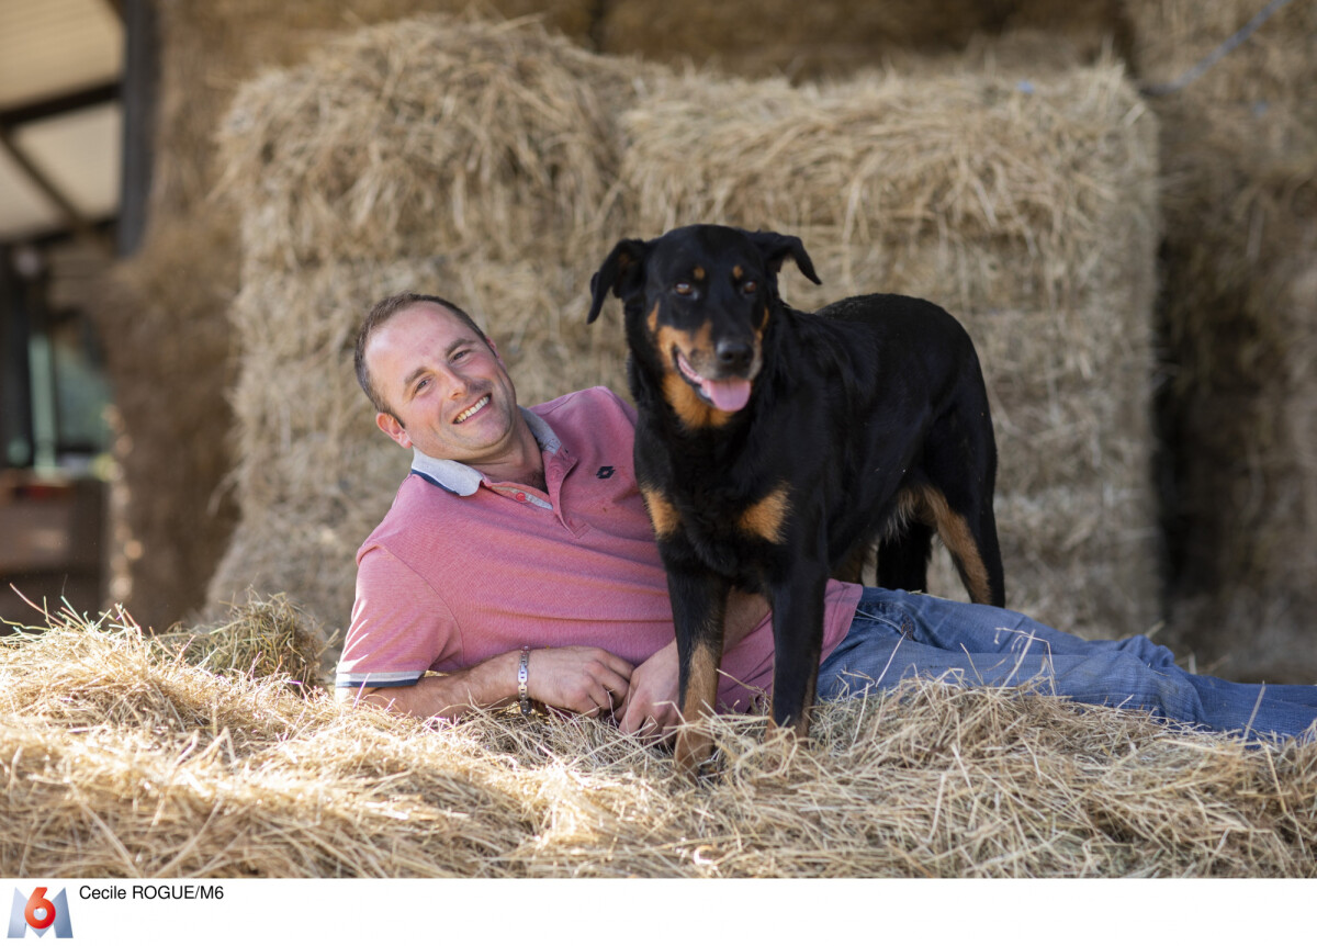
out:
<path id="1" fill-rule="evenodd" d="M 508 651 L 595 646 L 640 664 L 673 639 L 672 605 L 632 466 L 635 410 L 606 387 L 522 408 L 548 491 L 415 455 L 392 509 L 357 552 L 338 686 L 407 686 Z M 823 656 L 859 585 L 830 582 Z M 764 621 L 723 656 L 723 709 L 770 692 Z"/>

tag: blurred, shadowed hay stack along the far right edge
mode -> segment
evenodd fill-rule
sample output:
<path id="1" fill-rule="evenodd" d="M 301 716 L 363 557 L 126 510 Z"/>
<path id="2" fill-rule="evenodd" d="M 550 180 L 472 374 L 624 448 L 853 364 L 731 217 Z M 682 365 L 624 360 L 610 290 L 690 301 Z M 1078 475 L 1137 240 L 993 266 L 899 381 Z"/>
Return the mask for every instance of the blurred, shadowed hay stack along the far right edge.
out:
<path id="1" fill-rule="evenodd" d="M 1317 5 L 1131 3 L 1160 115 L 1172 628 L 1225 676 L 1317 680 Z"/>

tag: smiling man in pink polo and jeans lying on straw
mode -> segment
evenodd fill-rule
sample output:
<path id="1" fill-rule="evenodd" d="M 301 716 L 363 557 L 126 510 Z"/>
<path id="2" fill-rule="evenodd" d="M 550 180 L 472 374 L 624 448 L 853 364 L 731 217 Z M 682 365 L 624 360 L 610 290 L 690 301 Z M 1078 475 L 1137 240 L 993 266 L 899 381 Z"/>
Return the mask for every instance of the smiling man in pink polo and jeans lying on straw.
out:
<path id="1" fill-rule="evenodd" d="M 494 344 L 437 296 L 379 302 L 356 368 L 377 424 L 414 461 L 357 555 L 340 697 L 417 717 L 520 700 L 611 713 L 626 733 L 677 725 L 677 646 L 632 470 L 635 411 L 602 387 L 518 407 Z M 1084 640 L 1013 611 L 836 581 L 826 609 L 822 700 L 918 675 L 1027 682 L 1221 731 L 1285 737 L 1317 719 L 1317 686 L 1188 673 L 1144 636 Z M 766 603 L 736 596 L 719 709 L 749 709 L 772 665 Z"/>

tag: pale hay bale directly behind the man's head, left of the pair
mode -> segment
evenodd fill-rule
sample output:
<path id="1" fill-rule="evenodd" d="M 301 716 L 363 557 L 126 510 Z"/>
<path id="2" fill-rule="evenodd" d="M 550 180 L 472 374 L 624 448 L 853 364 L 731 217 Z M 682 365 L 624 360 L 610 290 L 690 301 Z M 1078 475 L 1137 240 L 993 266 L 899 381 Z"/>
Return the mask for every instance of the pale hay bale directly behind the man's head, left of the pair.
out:
<path id="1" fill-rule="evenodd" d="M 461 299 L 527 403 L 620 383 L 622 352 L 573 318 L 619 229 L 614 129 L 645 70 L 539 24 L 433 17 L 346 38 L 238 97 L 227 192 L 244 213 L 233 308 L 242 520 L 212 582 L 286 590 L 327 625 L 410 455 L 352 373 L 365 308 Z"/>

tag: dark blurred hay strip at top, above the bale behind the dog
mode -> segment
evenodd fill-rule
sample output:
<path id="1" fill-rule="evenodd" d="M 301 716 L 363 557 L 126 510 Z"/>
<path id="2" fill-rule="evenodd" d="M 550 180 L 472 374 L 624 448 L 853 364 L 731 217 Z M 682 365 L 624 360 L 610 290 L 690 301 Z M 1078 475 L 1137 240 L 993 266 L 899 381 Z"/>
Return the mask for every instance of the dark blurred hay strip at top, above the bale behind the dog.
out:
<path id="1" fill-rule="evenodd" d="M 674 0 L 614 0 L 598 28 L 603 53 L 640 54 L 664 63 L 712 66 L 744 76 L 793 80 L 844 76 L 886 58 L 905 61 L 965 49 L 985 36 L 1046 30 L 1039 51 L 1092 58 L 1112 38 L 1127 38 L 1121 0 L 788 0 L 752 5 Z"/>

